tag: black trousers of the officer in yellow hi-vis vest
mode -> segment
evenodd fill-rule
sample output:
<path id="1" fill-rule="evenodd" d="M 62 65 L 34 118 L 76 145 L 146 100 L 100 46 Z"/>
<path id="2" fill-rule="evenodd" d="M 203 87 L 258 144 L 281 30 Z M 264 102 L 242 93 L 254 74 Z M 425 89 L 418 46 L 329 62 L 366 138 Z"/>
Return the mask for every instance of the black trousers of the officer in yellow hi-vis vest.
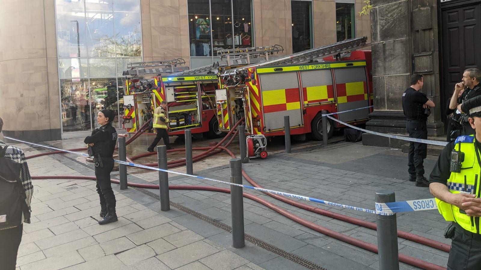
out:
<path id="1" fill-rule="evenodd" d="M 481 269 L 481 234 L 470 233 L 455 224 L 449 251 L 448 270 Z"/>

